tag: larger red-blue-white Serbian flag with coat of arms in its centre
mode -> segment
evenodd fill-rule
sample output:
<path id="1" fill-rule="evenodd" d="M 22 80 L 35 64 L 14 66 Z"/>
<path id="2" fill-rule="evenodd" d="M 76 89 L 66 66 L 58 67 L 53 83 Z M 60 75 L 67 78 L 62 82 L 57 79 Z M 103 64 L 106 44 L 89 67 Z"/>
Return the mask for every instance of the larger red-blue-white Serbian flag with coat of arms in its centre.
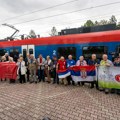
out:
<path id="1" fill-rule="evenodd" d="M 74 66 L 69 69 L 74 82 L 91 82 L 96 76 L 95 66 Z"/>

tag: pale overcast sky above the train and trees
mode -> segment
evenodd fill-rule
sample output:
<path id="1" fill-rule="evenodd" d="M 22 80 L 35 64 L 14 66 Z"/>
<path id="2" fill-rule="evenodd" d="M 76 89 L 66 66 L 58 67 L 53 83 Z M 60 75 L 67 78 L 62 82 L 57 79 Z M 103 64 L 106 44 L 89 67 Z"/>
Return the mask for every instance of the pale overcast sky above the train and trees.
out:
<path id="1" fill-rule="evenodd" d="M 16 36 L 22 34 L 28 35 L 32 29 L 36 34 L 40 34 L 41 37 L 46 37 L 49 36 L 53 26 L 56 27 L 57 31 L 60 31 L 65 28 L 80 27 L 89 19 L 93 21 L 109 20 L 112 15 L 116 16 L 118 22 L 120 21 L 120 0 L 76 0 L 69 4 L 46 9 L 69 1 L 74 0 L 0 0 L 0 39 L 8 37 L 14 32 L 13 29 L 3 26 L 2 24 L 4 23 L 14 25 L 19 30 Z M 119 3 L 94 8 L 95 6 L 114 2 Z M 48 16 L 69 13 L 90 7 L 91 9 L 45 19 Z M 41 9 L 46 10 L 40 11 Z M 33 11 L 39 12 L 32 13 Z M 25 22 L 34 19 L 38 20 Z"/>

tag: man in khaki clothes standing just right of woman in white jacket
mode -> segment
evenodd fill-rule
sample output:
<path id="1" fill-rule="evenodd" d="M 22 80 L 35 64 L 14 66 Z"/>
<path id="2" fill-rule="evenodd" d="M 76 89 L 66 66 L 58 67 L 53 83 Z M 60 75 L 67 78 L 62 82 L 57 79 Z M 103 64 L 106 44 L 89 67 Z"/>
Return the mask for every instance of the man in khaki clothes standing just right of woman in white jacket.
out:
<path id="1" fill-rule="evenodd" d="M 30 59 L 28 60 L 28 64 L 29 64 L 29 70 L 30 70 L 30 83 L 37 83 L 37 78 L 36 78 L 36 59 L 34 58 L 34 56 L 31 54 L 30 55 Z"/>

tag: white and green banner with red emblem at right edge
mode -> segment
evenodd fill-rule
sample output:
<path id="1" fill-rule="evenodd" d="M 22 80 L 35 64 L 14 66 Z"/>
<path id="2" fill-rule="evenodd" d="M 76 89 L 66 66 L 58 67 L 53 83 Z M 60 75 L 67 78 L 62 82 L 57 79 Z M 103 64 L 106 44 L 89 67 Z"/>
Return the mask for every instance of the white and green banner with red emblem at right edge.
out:
<path id="1" fill-rule="evenodd" d="M 120 67 L 105 67 L 98 68 L 98 83 L 103 88 L 120 89 Z"/>

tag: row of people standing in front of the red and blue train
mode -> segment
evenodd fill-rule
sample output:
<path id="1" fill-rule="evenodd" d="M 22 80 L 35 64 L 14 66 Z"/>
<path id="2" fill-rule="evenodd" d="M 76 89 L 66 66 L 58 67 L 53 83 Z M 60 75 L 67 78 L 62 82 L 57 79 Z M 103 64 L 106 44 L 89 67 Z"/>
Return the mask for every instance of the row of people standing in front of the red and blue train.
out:
<path id="1" fill-rule="evenodd" d="M 6 61 L 14 62 L 13 58 L 11 58 L 8 53 L 6 53 L 1 59 L 1 62 Z M 19 59 L 17 61 L 17 73 L 19 75 L 20 83 L 38 83 L 43 81 L 48 83 L 52 82 L 53 84 L 62 83 L 64 85 L 75 85 L 75 82 L 72 80 L 71 75 L 66 78 L 59 79 L 57 71 L 66 70 L 71 66 L 87 65 L 95 65 L 96 67 L 100 65 L 107 67 L 120 66 L 120 57 L 115 59 L 115 61 L 112 63 L 112 61 L 108 60 L 108 56 L 106 54 L 103 54 L 101 61 L 97 59 L 96 54 L 92 54 L 91 59 L 88 61 L 86 61 L 83 56 L 80 56 L 77 62 L 75 62 L 72 55 L 69 55 L 67 60 L 65 60 L 63 56 L 61 56 L 60 59 L 57 59 L 56 55 L 53 55 L 52 59 L 50 56 L 47 56 L 45 59 L 41 54 L 37 59 L 35 59 L 34 55 L 32 54 L 27 54 L 27 57 L 25 59 L 23 59 L 22 55 L 19 55 Z M 45 79 L 45 77 L 47 79 Z M 51 78 L 53 78 L 53 80 Z M 83 86 L 84 82 L 78 82 L 77 84 Z M 91 88 L 94 88 L 94 85 L 96 85 L 96 88 L 98 89 L 98 82 L 96 80 L 90 84 Z M 107 89 L 105 92 L 108 92 Z"/>

